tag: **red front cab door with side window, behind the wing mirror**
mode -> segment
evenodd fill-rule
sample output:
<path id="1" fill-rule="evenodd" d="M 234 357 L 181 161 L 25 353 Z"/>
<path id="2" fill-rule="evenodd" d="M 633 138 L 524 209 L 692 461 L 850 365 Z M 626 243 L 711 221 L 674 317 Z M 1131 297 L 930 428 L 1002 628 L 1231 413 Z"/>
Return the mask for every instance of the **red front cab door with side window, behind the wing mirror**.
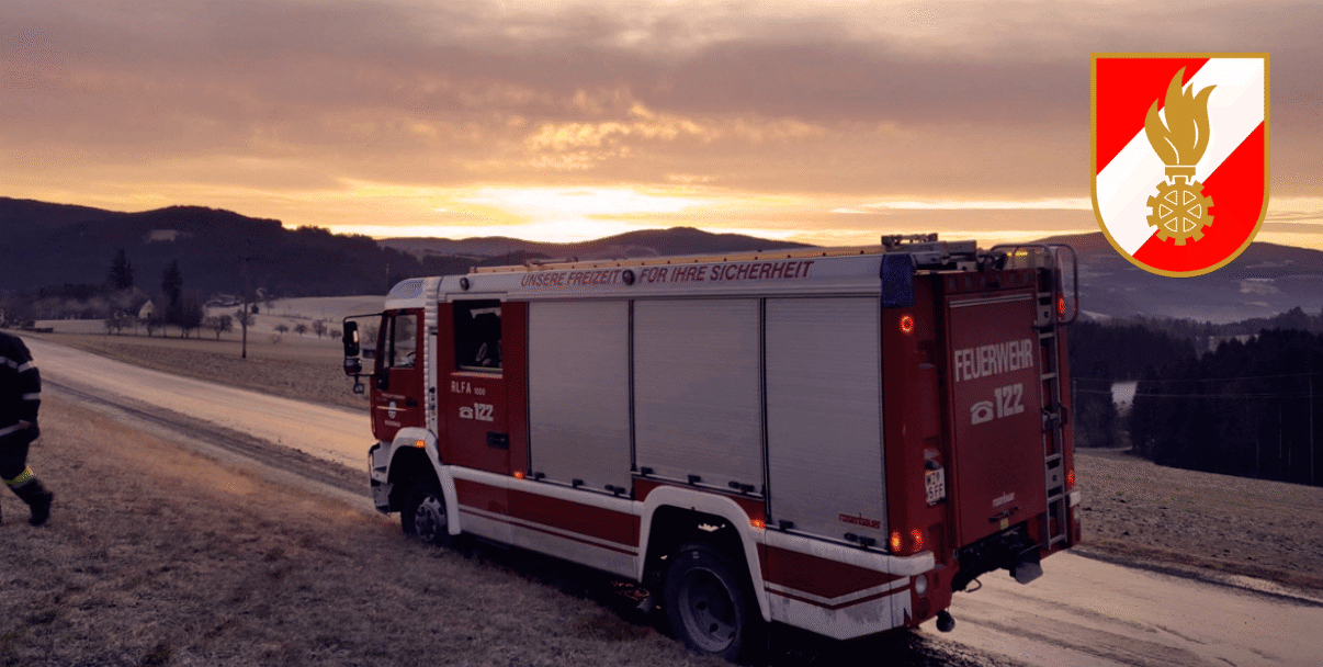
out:
<path id="1" fill-rule="evenodd" d="M 372 386 L 372 430 L 390 442 L 406 426 L 422 426 L 423 348 L 418 311 L 388 311 L 381 318 L 377 369 Z"/>

